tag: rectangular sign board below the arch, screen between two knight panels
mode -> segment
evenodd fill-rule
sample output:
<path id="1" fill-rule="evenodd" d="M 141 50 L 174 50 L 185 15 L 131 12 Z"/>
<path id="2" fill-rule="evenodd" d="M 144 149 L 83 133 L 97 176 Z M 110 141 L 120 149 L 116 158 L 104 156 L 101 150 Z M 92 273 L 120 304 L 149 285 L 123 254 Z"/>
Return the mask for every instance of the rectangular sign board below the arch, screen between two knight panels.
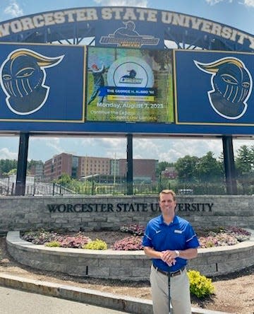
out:
<path id="1" fill-rule="evenodd" d="M 253 134 L 251 53 L 0 47 L 2 132 Z"/>

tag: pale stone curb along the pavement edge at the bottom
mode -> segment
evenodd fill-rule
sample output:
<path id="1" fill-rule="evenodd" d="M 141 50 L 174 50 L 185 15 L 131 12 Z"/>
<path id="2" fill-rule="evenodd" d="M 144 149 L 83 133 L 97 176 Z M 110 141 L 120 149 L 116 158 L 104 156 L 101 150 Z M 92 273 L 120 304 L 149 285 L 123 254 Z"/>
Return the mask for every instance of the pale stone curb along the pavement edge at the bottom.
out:
<path id="1" fill-rule="evenodd" d="M 93 306 L 122 310 L 133 314 L 152 314 L 152 301 L 142 298 L 132 298 L 114 293 L 106 293 L 92 289 L 78 288 L 49 281 L 26 279 L 9 274 L 0 275 L 0 286 L 20 289 L 44 296 L 54 296 L 70 301 L 88 303 Z M 202 308 L 191 308 L 192 314 L 230 314 Z"/>

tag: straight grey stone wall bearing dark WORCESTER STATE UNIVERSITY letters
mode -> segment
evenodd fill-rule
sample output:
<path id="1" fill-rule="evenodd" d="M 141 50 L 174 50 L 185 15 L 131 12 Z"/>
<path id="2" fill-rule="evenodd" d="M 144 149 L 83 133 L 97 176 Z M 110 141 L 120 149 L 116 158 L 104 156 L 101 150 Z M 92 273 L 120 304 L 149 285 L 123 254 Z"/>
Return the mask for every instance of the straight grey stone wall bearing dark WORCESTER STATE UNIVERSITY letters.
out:
<path id="1" fill-rule="evenodd" d="M 178 214 L 194 228 L 254 228 L 252 196 L 179 196 Z M 0 233 L 45 228 L 62 231 L 118 230 L 128 223 L 143 226 L 159 214 L 157 197 L 61 196 L 0 197 Z"/>

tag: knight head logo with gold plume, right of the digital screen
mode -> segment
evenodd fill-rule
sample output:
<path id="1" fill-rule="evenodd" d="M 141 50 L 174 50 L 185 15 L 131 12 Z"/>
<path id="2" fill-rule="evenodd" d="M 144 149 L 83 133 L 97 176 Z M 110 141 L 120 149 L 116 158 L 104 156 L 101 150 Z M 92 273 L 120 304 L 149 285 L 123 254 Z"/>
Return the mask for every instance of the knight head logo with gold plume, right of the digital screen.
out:
<path id="1" fill-rule="evenodd" d="M 247 110 L 247 100 L 252 90 L 252 78 L 245 64 L 237 58 L 226 57 L 211 63 L 195 61 L 198 69 L 212 74 L 212 91 L 208 98 L 218 115 L 236 120 Z"/>

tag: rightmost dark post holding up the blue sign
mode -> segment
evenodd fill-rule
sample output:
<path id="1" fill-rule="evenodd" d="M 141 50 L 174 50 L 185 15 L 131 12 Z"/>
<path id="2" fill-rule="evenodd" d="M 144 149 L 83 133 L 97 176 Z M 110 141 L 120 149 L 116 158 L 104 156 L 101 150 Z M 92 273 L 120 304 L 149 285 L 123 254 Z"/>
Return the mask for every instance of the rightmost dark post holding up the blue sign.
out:
<path id="1" fill-rule="evenodd" d="M 234 151 L 232 136 L 222 136 L 224 168 L 226 178 L 226 193 L 237 194 L 236 168 L 234 164 Z"/>

